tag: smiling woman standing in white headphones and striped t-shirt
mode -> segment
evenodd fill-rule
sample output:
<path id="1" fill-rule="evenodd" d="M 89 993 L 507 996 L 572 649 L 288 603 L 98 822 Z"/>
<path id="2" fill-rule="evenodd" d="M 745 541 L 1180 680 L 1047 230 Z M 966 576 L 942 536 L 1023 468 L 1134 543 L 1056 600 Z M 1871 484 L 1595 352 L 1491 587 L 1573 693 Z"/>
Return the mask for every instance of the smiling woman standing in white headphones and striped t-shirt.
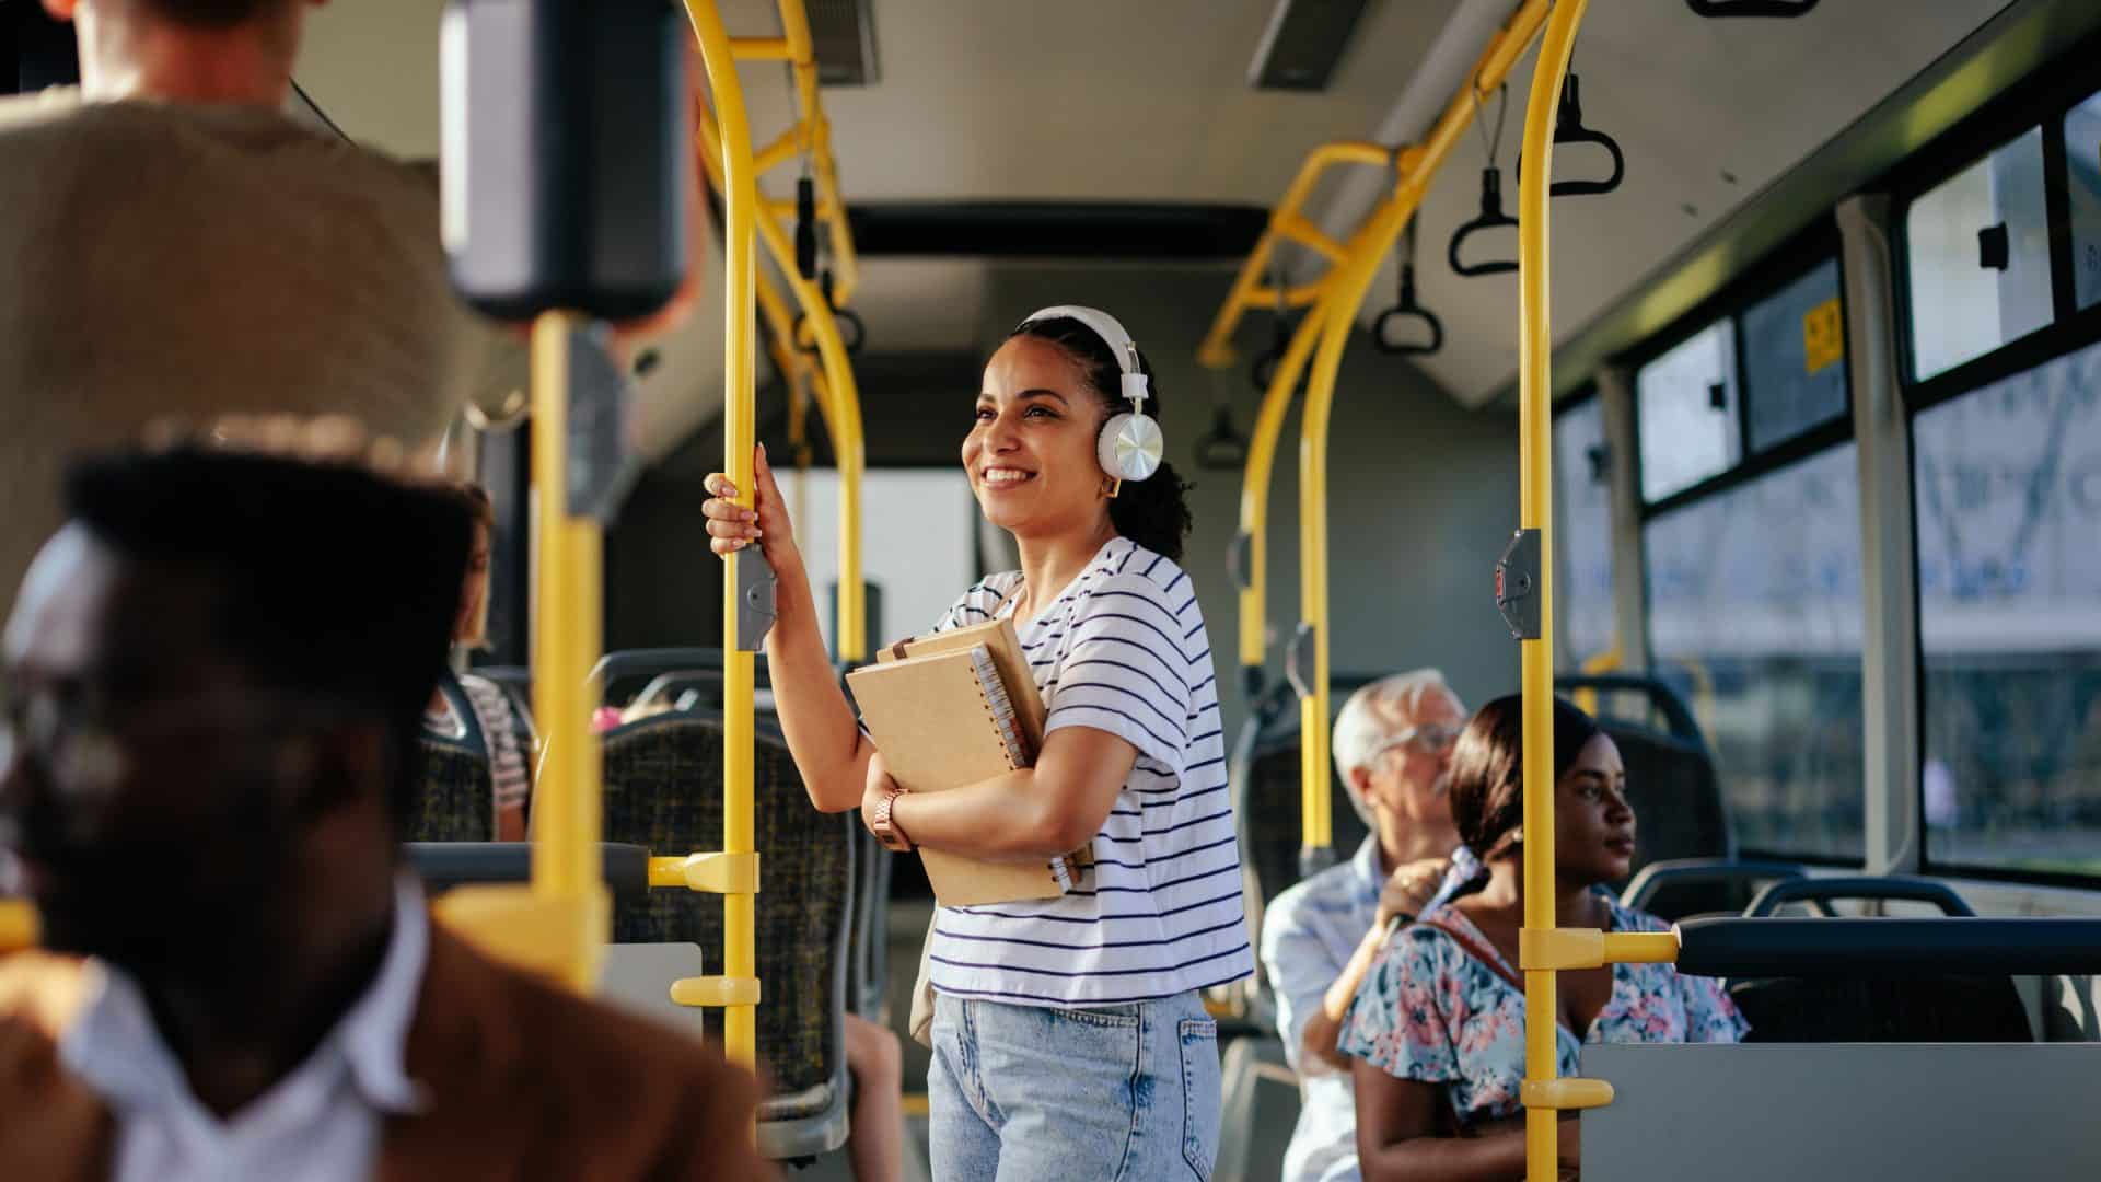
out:
<path id="1" fill-rule="evenodd" d="M 1034 768 L 981 784 L 906 793 L 889 778 L 826 660 L 765 456 L 754 509 L 725 477 L 708 484 L 714 551 L 758 543 L 779 574 L 767 658 L 817 808 L 859 806 L 893 850 L 1093 852 L 1061 898 L 935 919 L 937 1178 L 1187 1178 L 1219 1150 L 1216 1024 L 1198 991 L 1254 957 L 1219 677 L 1177 566 L 1189 509 L 1174 471 L 1153 469 L 1149 376 L 1124 328 L 1086 307 L 1023 320 L 985 364 L 960 458 L 1021 570 L 964 591 L 937 631 L 1013 618 L 1046 721 Z"/>

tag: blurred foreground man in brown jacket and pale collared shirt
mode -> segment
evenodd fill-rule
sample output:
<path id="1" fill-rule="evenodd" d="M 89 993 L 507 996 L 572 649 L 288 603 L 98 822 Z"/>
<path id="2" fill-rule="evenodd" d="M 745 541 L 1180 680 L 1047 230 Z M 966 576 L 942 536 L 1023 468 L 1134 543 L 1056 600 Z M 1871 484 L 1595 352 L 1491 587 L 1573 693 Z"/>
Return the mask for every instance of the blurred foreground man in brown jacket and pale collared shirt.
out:
<path id="1" fill-rule="evenodd" d="M 403 873 L 454 496 L 176 448 L 65 507 L 0 644 L 48 949 L 0 961 L 0 1178 L 765 1176 L 752 1079 L 485 959 Z"/>

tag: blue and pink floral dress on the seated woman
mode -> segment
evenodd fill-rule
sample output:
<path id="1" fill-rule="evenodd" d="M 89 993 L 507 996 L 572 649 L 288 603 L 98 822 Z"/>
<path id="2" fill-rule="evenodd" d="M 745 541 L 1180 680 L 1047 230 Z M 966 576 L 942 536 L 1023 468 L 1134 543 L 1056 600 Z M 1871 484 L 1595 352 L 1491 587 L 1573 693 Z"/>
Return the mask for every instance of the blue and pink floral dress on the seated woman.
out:
<path id="1" fill-rule="evenodd" d="M 1668 932 L 1662 919 L 1611 906 L 1611 932 Z M 1336 1045 L 1397 1079 L 1439 1083 L 1460 1125 L 1517 1115 L 1525 1079 L 1525 995 L 1475 959 L 1462 932 L 1517 976 L 1496 944 L 1456 906 L 1433 906 L 1380 949 L 1343 1016 Z M 1750 1031 L 1710 976 L 1670 965 L 1611 965 L 1611 997 L 1590 1022 L 1593 1043 L 1733 1043 Z M 1557 1026 L 1561 1075 L 1578 1075 L 1580 1047 Z"/>

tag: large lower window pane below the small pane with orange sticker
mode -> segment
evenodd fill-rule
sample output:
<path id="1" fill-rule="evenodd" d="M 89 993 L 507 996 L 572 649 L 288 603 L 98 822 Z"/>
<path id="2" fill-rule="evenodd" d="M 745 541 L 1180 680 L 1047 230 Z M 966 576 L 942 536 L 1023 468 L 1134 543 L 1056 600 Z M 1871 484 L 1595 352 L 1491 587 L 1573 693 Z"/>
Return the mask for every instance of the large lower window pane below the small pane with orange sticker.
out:
<path id="1" fill-rule="evenodd" d="M 1840 444 L 1643 530 L 1651 669 L 1700 713 L 1746 850 L 1861 854 L 1855 465 Z"/>

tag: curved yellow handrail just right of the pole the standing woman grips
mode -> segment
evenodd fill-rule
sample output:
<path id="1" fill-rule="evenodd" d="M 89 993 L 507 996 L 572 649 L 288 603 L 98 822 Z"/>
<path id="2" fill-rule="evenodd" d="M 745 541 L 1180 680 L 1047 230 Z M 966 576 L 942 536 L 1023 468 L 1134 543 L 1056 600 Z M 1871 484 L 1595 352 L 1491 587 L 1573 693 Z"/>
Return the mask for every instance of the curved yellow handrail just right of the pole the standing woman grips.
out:
<path id="1" fill-rule="evenodd" d="M 716 118 L 702 107 L 698 124 L 702 158 L 721 158 L 723 133 Z M 708 181 L 721 191 L 721 175 L 714 166 L 708 168 Z M 861 391 L 853 379 L 853 364 L 847 358 L 847 343 L 838 334 L 838 322 L 832 320 L 832 307 L 826 303 L 824 292 L 817 290 L 817 284 L 805 280 L 796 269 L 794 244 L 788 242 L 788 231 L 767 217 L 754 217 L 752 227 L 758 240 L 765 242 L 767 254 L 773 259 L 788 290 L 803 307 L 803 324 L 817 343 L 819 366 L 809 372 L 809 381 L 817 393 L 817 408 L 832 435 L 832 454 L 838 463 L 838 618 L 832 620 L 832 635 L 838 658 L 859 665 L 868 660 L 866 580 L 861 574 L 861 477 L 868 452 L 861 440 Z M 777 347 L 786 353 L 796 353 L 788 309 L 763 278 L 758 301 L 767 311 L 767 330 Z M 796 355 L 800 358 L 800 353 Z M 779 353 L 775 353 L 775 360 L 779 360 Z M 807 362 L 798 362 L 794 372 L 805 372 L 803 366 Z"/>

